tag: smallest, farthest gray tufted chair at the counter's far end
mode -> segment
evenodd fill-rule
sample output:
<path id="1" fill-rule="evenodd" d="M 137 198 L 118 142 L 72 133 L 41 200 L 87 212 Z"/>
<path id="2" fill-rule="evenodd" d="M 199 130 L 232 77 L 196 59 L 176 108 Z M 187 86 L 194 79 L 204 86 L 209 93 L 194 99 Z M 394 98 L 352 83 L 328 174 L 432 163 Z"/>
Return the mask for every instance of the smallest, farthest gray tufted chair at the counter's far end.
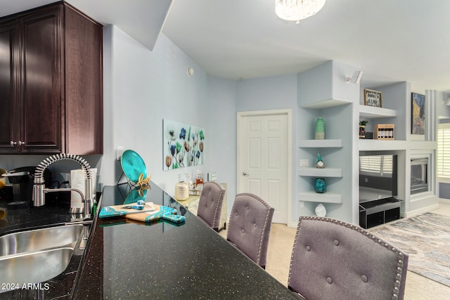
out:
<path id="1" fill-rule="evenodd" d="M 220 183 L 207 181 L 198 200 L 197 216 L 216 231 L 219 231 L 224 196 L 225 189 Z"/>

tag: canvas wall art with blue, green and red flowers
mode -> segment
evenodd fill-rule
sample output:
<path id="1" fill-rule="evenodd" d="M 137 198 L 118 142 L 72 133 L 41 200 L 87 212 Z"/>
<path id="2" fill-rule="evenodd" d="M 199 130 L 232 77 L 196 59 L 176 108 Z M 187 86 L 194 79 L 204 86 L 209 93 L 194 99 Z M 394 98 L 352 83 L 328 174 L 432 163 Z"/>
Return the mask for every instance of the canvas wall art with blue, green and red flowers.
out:
<path id="1" fill-rule="evenodd" d="M 162 122 L 164 130 L 163 168 L 165 171 L 203 164 L 205 159 L 205 130 L 189 124 Z"/>

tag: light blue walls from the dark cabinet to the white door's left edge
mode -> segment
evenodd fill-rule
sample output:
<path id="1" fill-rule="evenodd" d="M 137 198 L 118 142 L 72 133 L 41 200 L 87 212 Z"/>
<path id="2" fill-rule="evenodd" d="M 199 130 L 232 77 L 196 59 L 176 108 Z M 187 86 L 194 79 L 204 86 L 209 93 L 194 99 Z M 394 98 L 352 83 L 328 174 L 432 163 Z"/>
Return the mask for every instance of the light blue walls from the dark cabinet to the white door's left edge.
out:
<path id="1" fill-rule="evenodd" d="M 101 181 L 115 184 L 122 169 L 117 146 L 143 157 L 152 181 L 170 195 L 179 177 L 197 169 L 227 183 L 236 195 L 236 81 L 208 76 L 163 34 L 153 51 L 114 26 L 104 30 L 105 149 Z M 188 77 L 187 69 L 194 75 Z M 109 78 L 110 77 L 110 78 Z M 205 129 L 205 164 L 163 171 L 162 120 Z"/>

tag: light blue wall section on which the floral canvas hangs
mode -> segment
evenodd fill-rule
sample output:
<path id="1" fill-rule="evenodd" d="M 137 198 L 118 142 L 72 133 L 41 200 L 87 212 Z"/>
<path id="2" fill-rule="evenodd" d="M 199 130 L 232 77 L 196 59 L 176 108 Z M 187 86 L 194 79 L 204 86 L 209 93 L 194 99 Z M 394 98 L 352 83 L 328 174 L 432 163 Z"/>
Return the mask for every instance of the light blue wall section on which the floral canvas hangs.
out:
<path id="1" fill-rule="evenodd" d="M 104 32 L 105 71 L 109 69 L 112 76 L 104 86 L 107 138 L 101 181 L 107 185 L 117 182 L 121 169 L 116 149 L 123 146 L 138 152 L 152 181 L 174 195 L 179 176 L 193 175 L 197 169 L 210 171 L 207 74 L 164 35 L 149 51 L 118 27 L 105 27 Z M 188 77 L 188 67 L 195 70 L 192 77 Z M 205 128 L 205 164 L 163 170 L 163 119 Z"/>

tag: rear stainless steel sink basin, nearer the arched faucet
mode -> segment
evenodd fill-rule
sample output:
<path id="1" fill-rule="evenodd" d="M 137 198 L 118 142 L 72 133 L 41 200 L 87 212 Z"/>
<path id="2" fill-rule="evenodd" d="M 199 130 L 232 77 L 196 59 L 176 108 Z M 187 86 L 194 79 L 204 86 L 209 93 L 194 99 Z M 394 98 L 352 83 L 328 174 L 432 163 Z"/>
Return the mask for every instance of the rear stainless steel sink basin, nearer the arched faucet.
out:
<path id="1" fill-rule="evenodd" d="M 10 233 L 0 237 L 0 256 L 76 244 L 82 229 L 75 224 Z"/>

